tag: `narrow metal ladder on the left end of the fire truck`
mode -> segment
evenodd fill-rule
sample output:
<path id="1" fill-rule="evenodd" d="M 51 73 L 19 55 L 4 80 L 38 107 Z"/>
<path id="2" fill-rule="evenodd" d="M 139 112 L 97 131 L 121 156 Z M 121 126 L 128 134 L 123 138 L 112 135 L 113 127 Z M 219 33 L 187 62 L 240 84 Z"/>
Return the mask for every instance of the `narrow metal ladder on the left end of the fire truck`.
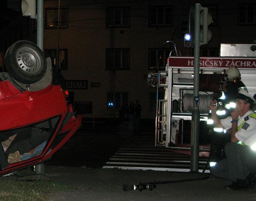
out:
<path id="1" fill-rule="evenodd" d="M 165 79 L 162 79 L 165 78 Z M 161 83 L 161 80 L 165 80 Z M 167 117 L 167 92 L 168 92 L 168 71 L 159 71 L 157 78 L 156 91 L 156 137 L 155 146 L 166 146 L 166 117 Z M 163 90 L 163 96 L 160 97 L 160 89 Z"/>

